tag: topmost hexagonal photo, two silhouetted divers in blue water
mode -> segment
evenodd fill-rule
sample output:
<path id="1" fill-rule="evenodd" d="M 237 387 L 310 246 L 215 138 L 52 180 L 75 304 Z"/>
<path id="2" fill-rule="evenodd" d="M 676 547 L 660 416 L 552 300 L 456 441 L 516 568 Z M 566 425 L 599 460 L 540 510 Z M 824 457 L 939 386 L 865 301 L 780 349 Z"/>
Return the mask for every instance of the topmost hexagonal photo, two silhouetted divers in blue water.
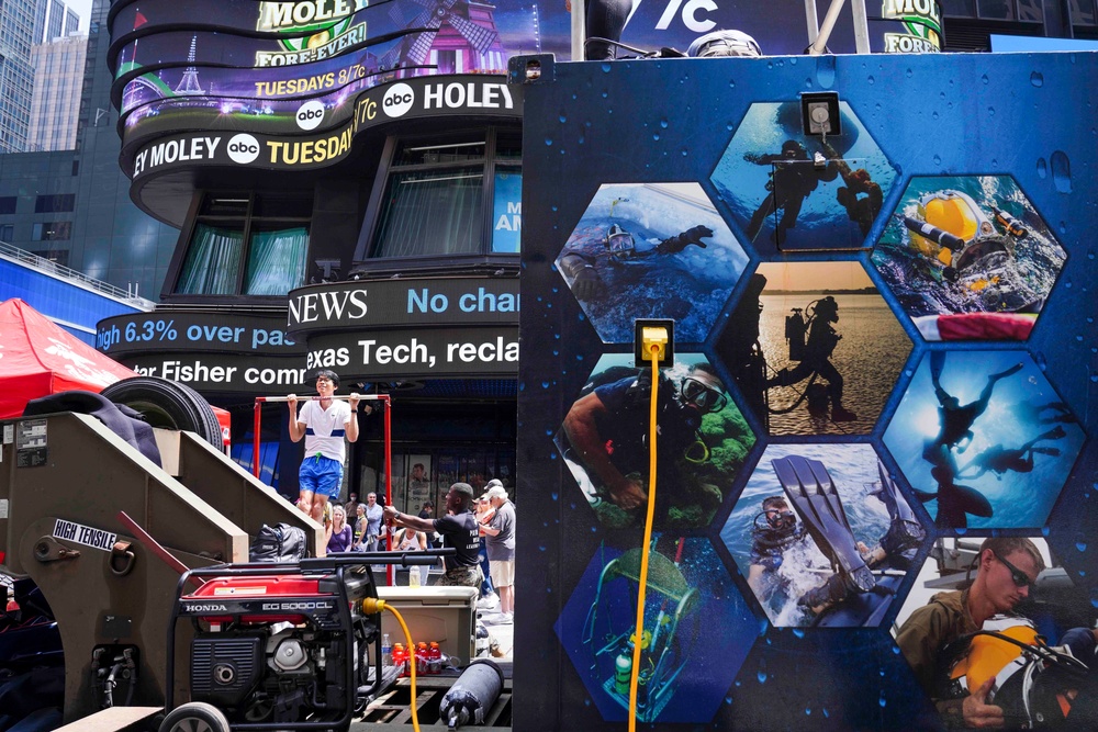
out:
<path id="1" fill-rule="evenodd" d="M 896 180 L 847 102 L 841 133 L 804 131 L 799 102 L 752 104 L 713 172 L 747 240 L 760 249 L 860 249 Z"/>

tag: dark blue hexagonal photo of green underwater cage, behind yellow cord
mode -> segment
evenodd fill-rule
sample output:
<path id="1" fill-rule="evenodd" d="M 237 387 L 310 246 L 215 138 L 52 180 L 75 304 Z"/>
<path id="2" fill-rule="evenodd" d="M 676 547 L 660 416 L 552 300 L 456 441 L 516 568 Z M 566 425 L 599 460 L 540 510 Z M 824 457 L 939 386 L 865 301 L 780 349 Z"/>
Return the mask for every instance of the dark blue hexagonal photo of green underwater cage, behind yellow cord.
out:
<path id="1" fill-rule="evenodd" d="M 606 545 L 553 629 L 606 721 L 626 719 L 639 635 L 637 720 L 708 722 L 751 650 L 758 620 L 708 539 L 663 534 L 652 544 L 640 633 L 641 552 Z"/>

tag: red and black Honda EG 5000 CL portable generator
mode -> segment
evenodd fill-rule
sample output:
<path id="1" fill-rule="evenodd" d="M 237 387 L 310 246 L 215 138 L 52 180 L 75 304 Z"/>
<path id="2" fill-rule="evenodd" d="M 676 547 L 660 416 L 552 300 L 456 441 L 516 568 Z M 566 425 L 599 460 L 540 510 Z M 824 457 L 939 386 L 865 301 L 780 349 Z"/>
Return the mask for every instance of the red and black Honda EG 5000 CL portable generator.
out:
<path id="1" fill-rule="evenodd" d="M 370 565 L 434 564 L 450 552 L 349 553 L 188 572 L 168 623 L 168 713 L 160 730 L 195 722 L 213 732 L 346 730 L 356 707 L 393 680 L 382 672 L 380 613 L 363 610 L 363 600 L 378 597 Z M 187 593 L 194 581 L 204 582 Z M 181 620 L 193 629 L 190 703 L 176 709 Z"/>

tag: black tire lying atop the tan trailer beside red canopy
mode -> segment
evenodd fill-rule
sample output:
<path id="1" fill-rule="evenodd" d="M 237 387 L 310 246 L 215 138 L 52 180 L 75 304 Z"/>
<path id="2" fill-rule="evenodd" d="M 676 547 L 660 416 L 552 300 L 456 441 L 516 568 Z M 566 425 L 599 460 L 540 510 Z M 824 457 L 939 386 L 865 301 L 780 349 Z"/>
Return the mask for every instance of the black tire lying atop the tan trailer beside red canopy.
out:
<path id="1" fill-rule="evenodd" d="M 190 386 L 157 376 L 133 376 L 109 385 L 102 395 L 139 412 L 153 427 L 194 432 L 217 450 L 224 449 L 217 416 Z"/>

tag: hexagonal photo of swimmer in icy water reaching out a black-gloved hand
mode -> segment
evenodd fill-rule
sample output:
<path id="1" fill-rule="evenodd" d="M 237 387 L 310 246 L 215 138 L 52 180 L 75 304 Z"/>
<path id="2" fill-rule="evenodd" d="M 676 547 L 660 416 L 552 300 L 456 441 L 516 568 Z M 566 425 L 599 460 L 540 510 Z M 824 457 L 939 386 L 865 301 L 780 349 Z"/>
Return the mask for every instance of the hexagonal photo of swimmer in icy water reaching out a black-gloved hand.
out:
<path id="1" fill-rule="evenodd" d="M 621 183 L 600 187 L 556 264 L 603 342 L 670 318 L 685 344 L 709 335 L 747 261 L 697 183 Z"/>

